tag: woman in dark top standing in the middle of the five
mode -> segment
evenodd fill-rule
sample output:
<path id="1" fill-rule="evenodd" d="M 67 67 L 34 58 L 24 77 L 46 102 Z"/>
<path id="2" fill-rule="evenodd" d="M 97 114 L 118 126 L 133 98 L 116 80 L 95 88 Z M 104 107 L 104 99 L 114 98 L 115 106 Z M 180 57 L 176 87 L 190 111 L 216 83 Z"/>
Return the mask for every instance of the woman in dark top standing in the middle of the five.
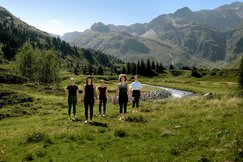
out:
<path id="1" fill-rule="evenodd" d="M 105 116 L 108 90 L 107 90 L 107 87 L 105 86 L 104 80 L 100 81 L 100 87 L 98 88 L 98 90 L 99 90 L 98 91 L 98 98 L 99 98 L 100 116 Z M 103 104 L 103 114 L 101 113 L 102 104 Z"/>

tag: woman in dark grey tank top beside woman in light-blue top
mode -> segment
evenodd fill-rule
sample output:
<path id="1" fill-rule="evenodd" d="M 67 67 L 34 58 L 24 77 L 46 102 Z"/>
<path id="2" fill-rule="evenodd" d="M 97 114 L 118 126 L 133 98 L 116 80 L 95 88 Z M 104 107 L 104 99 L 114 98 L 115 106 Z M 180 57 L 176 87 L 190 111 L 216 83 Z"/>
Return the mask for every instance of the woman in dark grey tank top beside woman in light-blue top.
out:
<path id="1" fill-rule="evenodd" d="M 120 106 L 120 118 L 119 120 L 126 118 L 127 113 L 127 102 L 129 96 L 129 87 L 126 83 L 127 77 L 125 74 L 121 74 L 119 76 L 120 83 L 117 85 L 116 88 L 116 97 L 119 97 L 119 106 Z"/>

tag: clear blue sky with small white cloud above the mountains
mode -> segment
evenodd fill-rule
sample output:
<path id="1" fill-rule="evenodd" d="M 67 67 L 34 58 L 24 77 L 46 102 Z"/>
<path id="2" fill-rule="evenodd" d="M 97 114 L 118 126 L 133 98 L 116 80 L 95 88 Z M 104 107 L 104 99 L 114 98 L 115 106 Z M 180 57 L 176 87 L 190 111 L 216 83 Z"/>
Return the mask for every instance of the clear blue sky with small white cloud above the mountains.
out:
<path id="1" fill-rule="evenodd" d="M 0 6 L 43 31 L 63 35 L 96 22 L 130 25 L 149 22 L 182 7 L 214 9 L 236 0 L 0 0 Z M 238 0 L 243 2 L 243 0 Z"/>

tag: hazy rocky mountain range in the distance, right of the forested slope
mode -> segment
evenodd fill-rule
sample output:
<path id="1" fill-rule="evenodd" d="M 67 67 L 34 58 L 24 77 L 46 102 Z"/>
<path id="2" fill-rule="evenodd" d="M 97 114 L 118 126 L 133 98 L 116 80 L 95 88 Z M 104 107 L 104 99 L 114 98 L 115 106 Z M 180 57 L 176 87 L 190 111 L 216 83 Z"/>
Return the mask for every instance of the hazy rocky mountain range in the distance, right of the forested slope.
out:
<path id="1" fill-rule="evenodd" d="M 98 22 L 61 39 L 125 61 L 150 59 L 167 66 L 222 67 L 243 53 L 243 3 L 196 12 L 184 7 L 130 26 Z"/>

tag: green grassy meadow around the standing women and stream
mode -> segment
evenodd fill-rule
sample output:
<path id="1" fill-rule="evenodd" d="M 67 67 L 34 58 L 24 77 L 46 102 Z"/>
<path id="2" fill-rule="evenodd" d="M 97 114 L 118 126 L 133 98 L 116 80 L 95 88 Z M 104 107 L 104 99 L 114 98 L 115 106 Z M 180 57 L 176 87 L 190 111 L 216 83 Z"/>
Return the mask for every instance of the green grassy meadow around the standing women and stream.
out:
<path id="1" fill-rule="evenodd" d="M 91 125 L 83 124 L 83 102 L 74 122 L 67 119 L 63 101 L 69 78 L 74 77 L 82 89 L 85 76 L 64 71 L 60 75 L 59 88 L 0 84 L 0 162 L 243 161 L 243 99 L 237 95 L 236 76 L 192 78 L 183 71 L 179 76 L 167 72 L 142 77 L 142 83 L 197 95 L 141 101 L 138 113 L 132 113 L 130 101 L 126 121 L 118 120 L 118 104 L 109 102 L 106 116 L 99 117 L 95 103 Z M 113 95 L 118 76 L 95 76 L 96 86 L 100 79 L 106 80 Z M 207 92 L 213 96 L 203 97 Z"/>

